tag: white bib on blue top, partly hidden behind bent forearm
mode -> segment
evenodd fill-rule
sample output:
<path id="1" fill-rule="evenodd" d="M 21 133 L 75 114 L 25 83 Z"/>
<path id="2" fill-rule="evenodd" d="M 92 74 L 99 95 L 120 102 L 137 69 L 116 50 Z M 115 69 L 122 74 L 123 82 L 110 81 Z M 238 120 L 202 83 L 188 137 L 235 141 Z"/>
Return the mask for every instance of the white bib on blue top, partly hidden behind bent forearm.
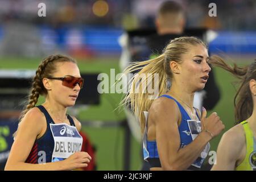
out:
<path id="1" fill-rule="evenodd" d="M 195 121 L 195 120 L 187 120 L 187 121 L 188 121 L 188 127 L 191 133 L 192 140 L 195 140 L 197 135 L 199 135 L 199 133 L 201 132 L 201 122 Z M 210 143 L 208 142 L 204 150 L 201 152 L 199 158 L 197 158 L 196 161 L 191 165 L 200 168 L 204 162 L 204 159 L 207 158 L 209 150 L 210 150 Z"/>

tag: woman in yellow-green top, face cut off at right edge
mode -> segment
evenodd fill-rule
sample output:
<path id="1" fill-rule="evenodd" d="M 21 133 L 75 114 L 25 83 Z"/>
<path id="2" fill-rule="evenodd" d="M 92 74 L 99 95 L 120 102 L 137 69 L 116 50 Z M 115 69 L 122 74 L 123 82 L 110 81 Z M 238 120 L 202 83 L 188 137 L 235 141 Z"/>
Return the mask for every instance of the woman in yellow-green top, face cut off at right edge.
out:
<path id="1" fill-rule="evenodd" d="M 236 126 L 222 136 L 212 170 L 256 170 L 256 60 L 248 67 L 230 67 L 222 59 L 211 61 L 240 78 L 234 98 Z"/>

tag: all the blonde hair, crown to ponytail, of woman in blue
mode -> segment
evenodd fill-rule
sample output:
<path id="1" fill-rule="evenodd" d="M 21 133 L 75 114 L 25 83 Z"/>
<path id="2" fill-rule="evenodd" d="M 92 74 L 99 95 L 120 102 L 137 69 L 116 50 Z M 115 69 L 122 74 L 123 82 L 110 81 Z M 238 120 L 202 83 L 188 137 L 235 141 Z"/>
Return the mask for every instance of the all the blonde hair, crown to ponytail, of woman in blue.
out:
<path id="1" fill-rule="evenodd" d="M 126 105 L 133 110 L 134 114 L 139 118 L 141 123 L 141 133 L 144 131 L 145 118 L 143 111 L 148 111 L 154 99 L 168 91 L 168 81 L 172 80 L 172 71 L 170 68 L 170 61 L 181 63 L 181 56 L 187 53 L 189 46 L 201 44 L 205 48 L 205 44 L 195 37 L 180 37 L 172 40 L 164 49 L 162 55 L 155 59 L 137 62 L 131 64 L 123 72 L 124 75 L 128 73 L 138 72 L 129 81 L 131 85 L 128 94 L 121 101 L 121 106 Z M 148 93 L 150 86 L 153 86 L 157 93 Z M 139 92 L 136 91 L 139 89 Z"/>

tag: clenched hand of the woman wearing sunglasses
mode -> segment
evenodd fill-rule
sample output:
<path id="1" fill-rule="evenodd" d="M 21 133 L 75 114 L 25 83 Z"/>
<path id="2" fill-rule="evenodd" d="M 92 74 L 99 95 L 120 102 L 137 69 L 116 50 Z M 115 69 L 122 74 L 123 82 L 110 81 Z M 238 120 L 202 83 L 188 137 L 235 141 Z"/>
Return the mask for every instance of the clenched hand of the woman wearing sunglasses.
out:
<path id="1" fill-rule="evenodd" d="M 67 170 L 87 167 L 92 157 L 87 152 L 75 152 L 69 158 L 63 160 Z"/>

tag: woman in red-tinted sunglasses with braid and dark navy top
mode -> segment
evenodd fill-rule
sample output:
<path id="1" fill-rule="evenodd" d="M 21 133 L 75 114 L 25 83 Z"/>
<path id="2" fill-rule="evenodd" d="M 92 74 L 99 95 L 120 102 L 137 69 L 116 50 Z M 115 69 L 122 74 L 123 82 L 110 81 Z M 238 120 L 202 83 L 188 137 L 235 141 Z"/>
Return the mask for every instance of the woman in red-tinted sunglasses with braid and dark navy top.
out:
<path id="1" fill-rule="evenodd" d="M 71 170 L 88 166 L 80 152 L 81 123 L 67 114 L 82 88 L 76 61 L 63 55 L 46 57 L 39 65 L 26 110 L 20 117 L 5 170 Z M 39 95 L 46 101 L 35 106 Z"/>

